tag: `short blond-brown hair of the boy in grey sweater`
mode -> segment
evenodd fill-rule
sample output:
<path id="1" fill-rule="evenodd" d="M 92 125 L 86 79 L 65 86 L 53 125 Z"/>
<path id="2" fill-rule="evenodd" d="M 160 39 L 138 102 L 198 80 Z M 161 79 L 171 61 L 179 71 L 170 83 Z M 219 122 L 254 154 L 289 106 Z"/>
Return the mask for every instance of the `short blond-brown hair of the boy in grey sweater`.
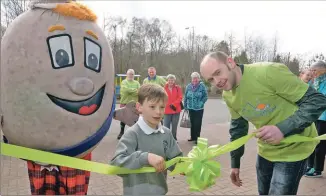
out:
<path id="1" fill-rule="evenodd" d="M 168 99 L 163 87 L 157 84 L 144 84 L 138 89 L 138 102 L 143 104 L 145 100 L 147 101 L 163 101 Z"/>

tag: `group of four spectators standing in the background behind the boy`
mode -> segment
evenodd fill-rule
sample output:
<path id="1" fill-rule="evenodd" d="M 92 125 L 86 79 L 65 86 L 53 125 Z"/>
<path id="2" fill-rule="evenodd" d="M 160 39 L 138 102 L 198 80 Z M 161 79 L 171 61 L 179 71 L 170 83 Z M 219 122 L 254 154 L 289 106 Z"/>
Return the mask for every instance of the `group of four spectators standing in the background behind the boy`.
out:
<path id="1" fill-rule="evenodd" d="M 138 101 L 138 90 L 140 83 L 135 80 L 135 71 L 127 70 L 127 77 L 121 82 L 120 90 L 120 107 L 124 107 L 130 102 Z M 190 117 L 190 138 L 188 141 L 197 143 L 200 137 L 204 105 L 208 98 L 205 84 L 201 81 L 200 74 L 193 72 L 191 82 L 186 86 L 183 96 L 182 88 L 176 84 L 176 76 L 168 74 L 166 80 L 156 74 L 155 67 L 148 68 L 148 76 L 144 79 L 143 84 L 156 84 L 164 88 L 167 94 L 167 103 L 164 107 L 164 117 L 161 124 L 169 128 L 177 141 L 177 128 L 179 126 L 180 113 L 182 110 L 187 111 Z M 117 139 L 120 139 L 125 131 L 125 124 L 120 122 L 121 130 Z"/>

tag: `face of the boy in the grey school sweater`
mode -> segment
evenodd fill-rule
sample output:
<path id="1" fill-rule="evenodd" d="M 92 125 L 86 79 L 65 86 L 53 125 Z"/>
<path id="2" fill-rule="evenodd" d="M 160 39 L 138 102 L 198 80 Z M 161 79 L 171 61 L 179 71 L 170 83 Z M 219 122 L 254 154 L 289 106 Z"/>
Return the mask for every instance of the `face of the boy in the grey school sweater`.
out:
<path id="1" fill-rule="evenodd" d="M 137 109 L 143 115 L 144 120 L 152 128 L 156 128 L 164 116 L 166 101 L 145 99 L 143 104 L 137 102 Z"/>

